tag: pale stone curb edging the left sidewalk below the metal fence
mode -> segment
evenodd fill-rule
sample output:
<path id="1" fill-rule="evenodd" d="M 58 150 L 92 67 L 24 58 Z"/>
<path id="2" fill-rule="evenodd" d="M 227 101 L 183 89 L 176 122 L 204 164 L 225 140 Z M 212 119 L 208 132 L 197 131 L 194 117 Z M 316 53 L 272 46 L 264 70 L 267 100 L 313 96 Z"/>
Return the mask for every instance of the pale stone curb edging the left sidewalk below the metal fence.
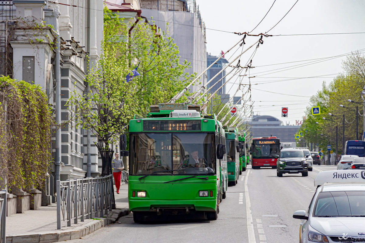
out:
<path id="1" fill-rule="evenodd" d="M 42 233 L 33 234 L 15 234 L 7 235 L 6 243 L 51 243 L 61 242 L 65 240 L 79 239 L 85 235 L 91 234 L 92 232 L 99 230 L 101 227 L 105 227 L 108 224 L 115 223 L 120 217 L 129 214 L 128 209 L 117 209 L 112 210 L 108 213 L 106 218 L 99 220 L 93 220 L 92 222 L 77 226 L 70 230 L 55 230 Z M 95 217 L 97 218 L 97 217 Z"/>

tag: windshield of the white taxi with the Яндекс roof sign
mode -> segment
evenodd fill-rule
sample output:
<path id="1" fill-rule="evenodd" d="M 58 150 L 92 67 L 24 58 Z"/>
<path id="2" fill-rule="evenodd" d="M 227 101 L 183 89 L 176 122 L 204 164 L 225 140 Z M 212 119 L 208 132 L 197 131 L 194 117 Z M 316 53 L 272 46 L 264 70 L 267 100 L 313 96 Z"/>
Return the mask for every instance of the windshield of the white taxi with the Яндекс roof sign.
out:
<path id="1" fill-rule="evenodd" d="M 365 191 L 320 192 L 314 217 L 356 217 L 365 215 Z"/>

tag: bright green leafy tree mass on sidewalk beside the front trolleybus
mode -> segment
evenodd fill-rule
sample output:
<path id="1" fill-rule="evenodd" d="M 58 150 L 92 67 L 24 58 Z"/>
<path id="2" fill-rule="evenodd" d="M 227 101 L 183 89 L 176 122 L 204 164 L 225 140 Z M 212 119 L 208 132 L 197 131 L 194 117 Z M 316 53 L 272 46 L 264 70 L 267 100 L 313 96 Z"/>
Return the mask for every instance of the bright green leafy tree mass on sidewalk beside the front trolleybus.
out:
<path id="1" fill-rule="evenodd" d="M 103 53 L 86 77 L 87 94 L 71 94 L 77 125 L 96 136 L 102 159 L 102 175 L 111 171 L 119 134 L 134 114 L 145 115 L 150 105 L 169 101 L 193 77 L 179 63 L 178 48 L 167 31 L 159 31 L 144 19 L 132 24 L 118 13 L 104 9 Z M 126 81 L 138 64 L 139 76 Z"/>

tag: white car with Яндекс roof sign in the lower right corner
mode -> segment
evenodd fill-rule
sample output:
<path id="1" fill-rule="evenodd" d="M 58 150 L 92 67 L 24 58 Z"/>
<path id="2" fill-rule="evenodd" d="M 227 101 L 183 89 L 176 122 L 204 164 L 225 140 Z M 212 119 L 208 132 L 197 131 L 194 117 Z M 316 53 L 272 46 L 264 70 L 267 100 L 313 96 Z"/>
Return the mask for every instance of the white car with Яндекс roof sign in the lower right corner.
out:
<path id="1" fill-rule="evenodd" d="M 301 219 L 299 242 L 365 242 L 365 171 L 319 172 L 317 190 Z"/>

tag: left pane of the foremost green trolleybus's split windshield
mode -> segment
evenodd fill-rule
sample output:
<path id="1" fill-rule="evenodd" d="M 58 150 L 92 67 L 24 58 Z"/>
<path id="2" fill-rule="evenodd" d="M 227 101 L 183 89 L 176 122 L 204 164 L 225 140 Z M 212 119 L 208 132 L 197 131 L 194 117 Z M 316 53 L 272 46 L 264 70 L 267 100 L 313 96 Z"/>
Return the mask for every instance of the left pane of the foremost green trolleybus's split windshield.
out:
<path id="1" fill-rule="evenodd" d="M 130 174 L 171 170 L 171 133 L 131 134 Z M 160 174 L 160 173 L 156 173 Z M 161 172 L 171 174 L 171 172 Z"/>

